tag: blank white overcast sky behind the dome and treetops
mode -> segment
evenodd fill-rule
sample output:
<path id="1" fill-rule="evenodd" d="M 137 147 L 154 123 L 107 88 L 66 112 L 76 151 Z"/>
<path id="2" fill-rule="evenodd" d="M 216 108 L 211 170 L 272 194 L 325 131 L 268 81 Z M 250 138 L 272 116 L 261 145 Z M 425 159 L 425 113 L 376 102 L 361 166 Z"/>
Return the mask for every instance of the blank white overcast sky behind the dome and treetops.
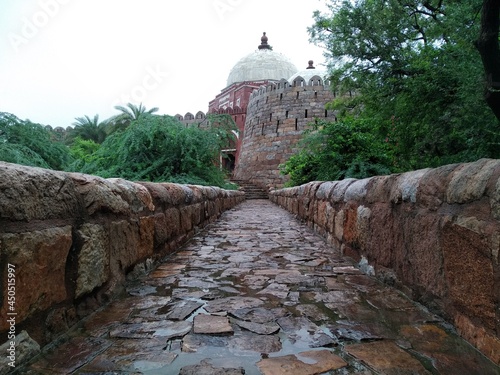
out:
<path id="1" fill-rule="evenodd" d="M 67 127 L 127 102 L 206 112 L 266 31 L 299 70 L 326 0 L 0 0 L 0 111 Z"/>

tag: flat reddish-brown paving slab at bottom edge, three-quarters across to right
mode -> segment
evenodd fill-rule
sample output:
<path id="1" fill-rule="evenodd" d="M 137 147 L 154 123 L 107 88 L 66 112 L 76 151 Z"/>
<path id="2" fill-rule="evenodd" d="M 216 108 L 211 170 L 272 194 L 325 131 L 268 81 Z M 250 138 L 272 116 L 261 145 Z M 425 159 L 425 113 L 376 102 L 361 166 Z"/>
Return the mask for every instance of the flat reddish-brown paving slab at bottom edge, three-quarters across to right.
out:
<path id="1" fill-rule="evenodd" d="M 382 374 L 431 374 L 415 357 L 391 341 L 347 345 L 345 350 Z"/>

